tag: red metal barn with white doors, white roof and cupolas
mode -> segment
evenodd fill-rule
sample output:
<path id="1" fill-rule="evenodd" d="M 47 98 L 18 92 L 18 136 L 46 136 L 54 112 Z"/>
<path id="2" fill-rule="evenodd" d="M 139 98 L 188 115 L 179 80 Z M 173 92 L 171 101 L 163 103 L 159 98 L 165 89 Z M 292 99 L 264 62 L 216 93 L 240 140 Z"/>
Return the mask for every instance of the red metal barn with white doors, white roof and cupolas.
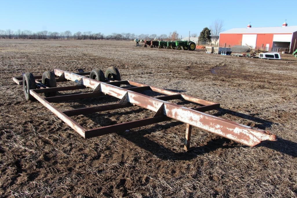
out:
<path id="1" fill-rule="evenodd" d="M 282 51 L 287 48 L 292 53 L 297 48 L 297 26 L 233 28 L 220 33 L 219 45 L 249 45 L 252 48 L 264 48 L 269 51 Z"/>

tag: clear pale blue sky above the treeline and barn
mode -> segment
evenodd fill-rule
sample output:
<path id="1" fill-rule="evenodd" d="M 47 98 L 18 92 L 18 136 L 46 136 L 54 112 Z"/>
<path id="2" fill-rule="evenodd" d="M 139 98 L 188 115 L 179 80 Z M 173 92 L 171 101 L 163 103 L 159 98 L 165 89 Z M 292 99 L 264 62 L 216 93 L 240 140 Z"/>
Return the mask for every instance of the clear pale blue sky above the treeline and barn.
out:
<path id="1" fill-rule="evenodd" d="M 297 25 L 296 2 L 291 1 L 30 1 L 0 0 L 0 29 L 38 32 L 92 31 L 199 34 L 216 19 L 224 29 Z"/>

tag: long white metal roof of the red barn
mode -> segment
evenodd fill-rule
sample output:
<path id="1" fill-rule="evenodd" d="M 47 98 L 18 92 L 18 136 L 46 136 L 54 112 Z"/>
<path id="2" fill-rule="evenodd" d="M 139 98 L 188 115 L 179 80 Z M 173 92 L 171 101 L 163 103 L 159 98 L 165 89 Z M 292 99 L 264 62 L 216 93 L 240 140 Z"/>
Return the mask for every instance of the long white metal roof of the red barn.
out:
<path id="1" fill-rule="evenodd" d="M 287 27 L 260 27 L 260 28 L 233 28 L 221 32 L 221 34 L 239 34 L 239 33 L 293 33 L 297 32 L 297 26 Z"/>

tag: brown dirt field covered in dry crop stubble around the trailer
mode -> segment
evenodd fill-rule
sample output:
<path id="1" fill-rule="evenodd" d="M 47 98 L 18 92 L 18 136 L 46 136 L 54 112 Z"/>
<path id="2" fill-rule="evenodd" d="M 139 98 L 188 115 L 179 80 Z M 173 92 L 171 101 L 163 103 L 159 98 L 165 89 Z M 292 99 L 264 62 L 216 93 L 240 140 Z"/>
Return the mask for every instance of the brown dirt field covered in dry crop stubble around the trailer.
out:
<path id="1" fill-rule="evenodd" d="M 262 60 L 136 48 L 124 41 L 0 40 L 1 197 L 296 197 L 297 59 Z M 287 63 L 289 62 L 289 63 Z M 12 81 L 23 72 L 109 66 L 122 79 L 221 103 L 209 114 L 265 129 L 277 142 L 247 147 L 167 121 L 83 139 Z M 66 110 L 112 103 L 55 103 Z M 238 112 L 238 113 L 236 113 Z M 86 128 L 147 117 L 138 107 L 75 116 Z"/>

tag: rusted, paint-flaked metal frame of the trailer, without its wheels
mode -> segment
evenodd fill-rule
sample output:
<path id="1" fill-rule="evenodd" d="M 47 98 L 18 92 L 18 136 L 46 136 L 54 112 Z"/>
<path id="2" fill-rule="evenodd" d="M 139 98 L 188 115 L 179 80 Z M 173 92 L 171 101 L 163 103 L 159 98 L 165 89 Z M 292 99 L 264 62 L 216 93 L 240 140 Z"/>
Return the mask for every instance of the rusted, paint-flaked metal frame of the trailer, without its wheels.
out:
<path id="1" fill-rule="evenodd" d="M 241 125 L 230 120 L 225 120 L 213 115 L 204 113 L 205 111 L 210 111 L 219 108 L 219 103 L 210 102 L 207 100 L 194 98 L 188 95 L 172 92 L 165 89 L 160 89 L 157 87 L 148 86 L 145 84 L 136 83 L 133 81 L 109 81 L 100 82 L 88 77 L 82 76 L 86 73 L 70 73 L 67 71 L 55 69 L 54 73 L 57 81 L 74 81 L 76 86 L 67 87 L 54 87 L 54 88 L 44 88 L 44 89 L 33 89 L 30 90 L 30 94 L 40 101 L 44 106 L 46 106 L 50 111 L 56 114 L 61 120 L 67 123 L 72 129 L 77 131 L 84 138 L 100 136 L 108 133 L 113 133 L 116 131 L 123 131 L 125 129 L 136 128 L 144 125 L 150 125 L 158 122 L 163 122 L 170 119 L 175 119 L 186 123 L 186 142 L 185 149 L 189 149 L 189 142 L 191 136 L 192 126 L 198 127 L 200 129 L 209 131 L 211 133 L 217 134 L 222 137 L 240 142 L 248 146 L 255 146 L 264 140 L 276 140 L 275 135 L 271 135 L 267 131 L 259 130 L 257 128 L 252 128 L 246 125 Z M 13 78 L 13 80 L 20 84 L 21 77 Z M 39 81 L 37 81 L 39 82 Z M 132 88 L 121 88 L 117 87 L 119 85 L 132 85 L 136 87 Z M 46 92 L 55 91 L 67 91 L 76 89 L 86 89 L 91 88 L 94 91 L 90 93 L 72 94 L 72 95 L 62 95 L 55 97 L 43 98 L 39 94 Z M 140 91 L 152 90 L 154 92 L 162 93 L 166 96 L 160 97 L 150 97 L 141 93 Z M 109 95 L 118 98 L 120 101 L 116 104 L 109 104 L 96 107 L 88 107 L 81 109 L 74 109 L 68 111 L 59 111 L 50 102 L 59 102 L 62 100 L 74 100 L 81 98 L 90 98 Z M 175 103 L 170 103 L 168 100 L 184 99 L 192 103 L 197 103 L 199 107 L 187 108 L 184 106 L 177 105 Z M 68 116 L 74 116 L 79 114 L 89 114 L 100 111 L 108 111 L 113 109 L 127 108 L 132 105 L 137 105 L 145 109 L 156 112 L 154 117 L 149 117 L 145 119 L 135 120 L 131 122 L 119 123 L 116 125 L 105 126 L 95 129 L 86 130 L 81 127 L 78 123 L 73 121 Z"/>

